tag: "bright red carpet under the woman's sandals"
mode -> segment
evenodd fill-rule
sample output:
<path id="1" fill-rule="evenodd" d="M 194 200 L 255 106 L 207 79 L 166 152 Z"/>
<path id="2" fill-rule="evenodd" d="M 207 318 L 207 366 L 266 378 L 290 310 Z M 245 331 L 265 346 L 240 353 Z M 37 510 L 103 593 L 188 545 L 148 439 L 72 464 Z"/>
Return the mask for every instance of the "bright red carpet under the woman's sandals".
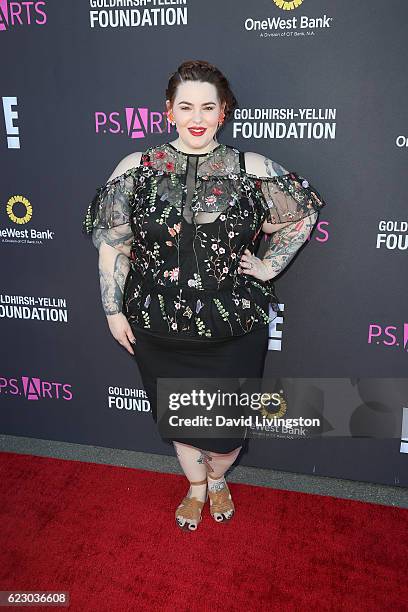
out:
<path id="1" fill-rule="evenodd" d="M 0 590 L 69 591 L 71 612 L 408 609 L 408 510 L 232 483 L 233 521 L 206 507 L 184 533 L 183 476 L 14 453 L 0 470 Z"/>

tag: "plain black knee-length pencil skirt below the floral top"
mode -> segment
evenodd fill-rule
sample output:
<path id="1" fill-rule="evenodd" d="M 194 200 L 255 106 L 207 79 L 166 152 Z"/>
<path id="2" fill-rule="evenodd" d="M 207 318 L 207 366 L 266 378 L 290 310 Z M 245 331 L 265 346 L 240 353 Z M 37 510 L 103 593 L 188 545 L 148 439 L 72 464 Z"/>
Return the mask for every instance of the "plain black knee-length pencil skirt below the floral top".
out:
<path id="1" fill-rule="evenodd" d="M 148 331 L 133 328 L 136 343 L 133 345 L 134 357 L 139 368 L 143 386 L 150 402 L 151 413 L 154 421 L 158 422 L 159 433 L 162 439 L 172 443 L 172 440 L 183 442 L 195 446 L 202 450 L 213 451 L 215 453 L 228 453 L 238 446 L 246 447 L 248 440 L 247 426 L 223 427 L 210 426 L 197 430 L 197 427 L 190 428 L 191 431 L 206 431 L 206 436 L 188 436 L 190 429 L 175 428 L 174 433 L 168 433 L 169 428 L 165 427 L 166 434 L 161 431 L 163 422 L 163 403 L 158 410 L 158 399 L 161 401 L 163 381 L 157 385 L 158 378 L 167 379 L 206 379 L 204 386 L 206 391 L 215 389 L 240 391 L 256 391 L 256 379 L 260 381 L 263 376 L 265 358 L 268 352 L 268 325 L 248 332 L 242 336 L 235 336 L 220 340 L 195 340 L 165 338 L 156 336 Z M 223 380 L 220 380 L 223 379 Z M 241 380 L 239 380 L 241 379 Z M 242 380 L 252 379 L 252 380 Z M 220 383 L 220 384 L 219 384 Z M 177 385 L 177 383 L 175 383 Z M 172 383 L 171 383 L 172 385 Z M 254 387 L 255 385 L 255 387 Z M 196 388 L 196 385 L 194 386 Z M 173 388 L 174 391 L 175 387 Z M 180 391 L 185 387 L 179 387 Z M 158 397 L 159 390 L 159 397 Z M 168 396 L 167 396 L 168 397 Z M 242 397 L 242 396 L 240 396 Z M 224 405 L 216 403 L 211 411 L 203 411 L 203 416 L 215 414 L 229 417 L 245 417 L 248 414 L 242 402 Z M 172 415 L 175 414 L 174 412 Z M 194 412 L 194 415 L 197 411 Z M 177 416 L 188 415 L 188 408 L 177 410 Z M 190 415 L 192 412 L 190 411 Z M 223 419 L 221 419 L 222 422 Z M 238 419 L 239 420 L 239 419 Z M 228 437 L 223 437 L 223 432 L 228 431 Z M 180 436 L 180 432 L 182 435 Z"/>

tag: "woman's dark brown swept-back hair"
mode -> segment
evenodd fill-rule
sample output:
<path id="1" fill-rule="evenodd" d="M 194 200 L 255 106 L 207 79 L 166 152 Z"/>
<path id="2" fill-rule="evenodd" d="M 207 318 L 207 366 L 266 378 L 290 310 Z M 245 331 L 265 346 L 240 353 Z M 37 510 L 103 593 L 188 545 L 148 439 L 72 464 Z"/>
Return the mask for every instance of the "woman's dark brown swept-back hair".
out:
<path id="1" fill-rule="evenodd" d="M 166 100 L 170 100 L 171 105 L 174 103 L 178 85 L 184 81 L 202 81 L 215 85 L 221 104 L 225 102 L 225 122 L 228 121 L 238 102 L 221 70 L 204 60 L 188 60 L 180 64 L 171 75 L 166 89 Z"/>

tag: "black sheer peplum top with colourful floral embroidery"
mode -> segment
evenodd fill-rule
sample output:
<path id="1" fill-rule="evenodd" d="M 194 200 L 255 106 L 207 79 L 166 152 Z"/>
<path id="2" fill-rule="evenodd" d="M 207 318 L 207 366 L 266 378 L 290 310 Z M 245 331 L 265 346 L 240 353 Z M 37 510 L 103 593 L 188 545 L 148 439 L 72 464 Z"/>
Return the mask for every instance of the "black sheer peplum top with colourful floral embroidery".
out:
<path id="1" fill-rule="evenodd" d="M 141 328 L 211 341 L 246 334 L 276 316 L 274 283 L 238 272 L 246 248 L 256 255 L 264 221 L 296 223 L 324 205 L 296 172 L 250 174 L 233 146 L 190 154 L 164 143 L 98 187 L 83 231 L 131 230 L 122 312 L 136 337 Z"/>

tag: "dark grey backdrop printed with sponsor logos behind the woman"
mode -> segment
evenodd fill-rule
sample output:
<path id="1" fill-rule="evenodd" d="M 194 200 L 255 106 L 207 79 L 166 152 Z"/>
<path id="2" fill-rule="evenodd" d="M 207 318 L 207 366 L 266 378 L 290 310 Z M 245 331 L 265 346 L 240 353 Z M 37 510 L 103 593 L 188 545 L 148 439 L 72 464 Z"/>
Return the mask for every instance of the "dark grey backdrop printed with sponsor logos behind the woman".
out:
<path id="1" fill-rule="evenodd" d="M 0 0 L 3 433 L 174 454 L 81 224 L 123 157 L 177 137 L 168 79 L 204 59 L 238 99 L 219 142 L 327 202 L 276 281 L 265 364 L 323 425 L 261 427 L 241 463 L 408 485 L 407 19 L 402 0 Z"/>

